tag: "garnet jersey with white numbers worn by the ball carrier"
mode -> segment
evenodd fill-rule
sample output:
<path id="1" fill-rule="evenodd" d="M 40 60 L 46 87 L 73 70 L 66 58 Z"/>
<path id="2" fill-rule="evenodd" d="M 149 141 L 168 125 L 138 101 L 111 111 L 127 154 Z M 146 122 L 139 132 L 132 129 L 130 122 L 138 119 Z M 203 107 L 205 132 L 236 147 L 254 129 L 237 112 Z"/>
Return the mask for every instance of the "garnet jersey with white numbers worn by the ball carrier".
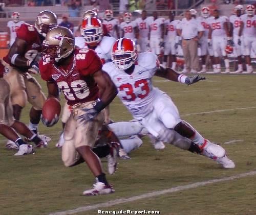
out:
<path id="1" fill-rule="evenodd" d="M 90 49 L 76 49 L 71 63 L 66 67 L 39 62 L 41 78 L 55 82 L 65 95 L 68 105 L 85 103 L 98 99 L 98 85 L 93 74 L 100 70 L 102 63 Z"/>

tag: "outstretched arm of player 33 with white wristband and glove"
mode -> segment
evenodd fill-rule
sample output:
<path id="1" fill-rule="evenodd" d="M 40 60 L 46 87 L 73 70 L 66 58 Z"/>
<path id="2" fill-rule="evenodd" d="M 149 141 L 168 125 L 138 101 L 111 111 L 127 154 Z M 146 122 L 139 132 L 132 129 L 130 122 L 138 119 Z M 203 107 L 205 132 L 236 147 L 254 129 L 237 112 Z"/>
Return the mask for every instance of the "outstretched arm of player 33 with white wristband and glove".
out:
<path id="1" fill-rule="evenodd" d="M 155 76 L 165 78 L 170 81 L 176 81 L 176 82 L 179 81 L 179 82 L 187 84 L 187 85 L 194 84 L 200 80 L 205 80 L 204 77 L 199 76 L 199 75 L 187 77 L 185 75 L 180 75 L 180 74 L 176 73 L 175 70 L 173 70 L 169 67 L 163 68 L 161 66 L 157 69 Z"/>

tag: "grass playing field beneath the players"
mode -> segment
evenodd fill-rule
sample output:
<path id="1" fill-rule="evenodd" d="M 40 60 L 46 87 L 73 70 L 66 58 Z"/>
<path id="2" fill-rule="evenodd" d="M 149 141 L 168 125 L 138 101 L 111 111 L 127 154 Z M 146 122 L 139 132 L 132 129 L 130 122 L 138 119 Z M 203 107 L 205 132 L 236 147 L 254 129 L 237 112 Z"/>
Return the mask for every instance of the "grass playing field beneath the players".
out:
<path id="1" fill-rule="evenodd" d="M 184 120 L 226 149 L 237 165 L 235 169 L 224 170 L 214 161 L 170 145 L 156 151 L 145 137 L 142 147 L 131 153 L 132 159 L 119 160 L 116 174 L 108 175 L 115 194 L 83 197 L 82 191 L 94 182 L 91 172 L 84 163 L 73 168 L 63 166 L 61 150 L 54 147 L 60 123 L 52 128 L 40 125 L 40 133 L 52 141 L 49 148 L 34 155 L 13 156 L 15 152 L 5 149 L 5 140 L 0 138 L 0 214 L 48 214 L 255 171 L 255 76 L 206 78 L 191 86 L 155 78 L 155 85 L 172 96 Z M 42 86 L 45 89 L 44 83 Z M 22 121 L 26 123 L 29 108 L 28 104 L 23 111 Z M 111 105 L 111 117 L 114 121 L 131 119 L 118 99 Z M 105 160 L 103 166 L 106 169 Z M 248 176 L 99 209 L 159 210 L 164 215 L 256 214 L 255 178 Z M 93 215 L 97 210 L 79 214 Z"/>

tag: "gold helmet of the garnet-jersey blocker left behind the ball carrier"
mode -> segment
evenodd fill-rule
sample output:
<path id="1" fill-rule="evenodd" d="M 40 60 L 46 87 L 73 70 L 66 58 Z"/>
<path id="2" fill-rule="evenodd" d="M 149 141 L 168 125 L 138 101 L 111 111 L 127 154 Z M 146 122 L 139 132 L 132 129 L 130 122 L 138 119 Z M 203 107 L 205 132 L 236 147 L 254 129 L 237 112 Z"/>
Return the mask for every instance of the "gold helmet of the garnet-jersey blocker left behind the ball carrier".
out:
<path id="1" fill-rule="evenodd" d="M 50 29 L 57 26 L 57 16 L 49 10 L 41 11 L 35 20 L 35 28 L 39 34 L 46 37 Z"/>

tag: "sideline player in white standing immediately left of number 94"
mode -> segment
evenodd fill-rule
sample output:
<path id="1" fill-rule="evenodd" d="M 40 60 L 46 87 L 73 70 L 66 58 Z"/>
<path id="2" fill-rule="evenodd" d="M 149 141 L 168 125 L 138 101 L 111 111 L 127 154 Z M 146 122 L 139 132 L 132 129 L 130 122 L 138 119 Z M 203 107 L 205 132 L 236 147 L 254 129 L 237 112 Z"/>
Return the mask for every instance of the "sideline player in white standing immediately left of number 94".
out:
<path id="1" fill-rule="evenodd" d="M 239 74 L 243 72 L 243 65 L 242 65 L 242 46 L 243 46 L 243 39 L 242 39 L 242 28 L 241 28 L 241 15 L 243 13 L 243 6 L 237 5 L 234 7 L 236 15 L 232 15 L 229 17 L 229 21 L 231 23 L 231 30 L 233 34 L 233 41 L 235 54 L 238 58 L 238 70 L 231 72 L 232 74 Z"/>

